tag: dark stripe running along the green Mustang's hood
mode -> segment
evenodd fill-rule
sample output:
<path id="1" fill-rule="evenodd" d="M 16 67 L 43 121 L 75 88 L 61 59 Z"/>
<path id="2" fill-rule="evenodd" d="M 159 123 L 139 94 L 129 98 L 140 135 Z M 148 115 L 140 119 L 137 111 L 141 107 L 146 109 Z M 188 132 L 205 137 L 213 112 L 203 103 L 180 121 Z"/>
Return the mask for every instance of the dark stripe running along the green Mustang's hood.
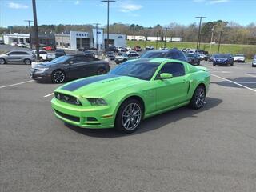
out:
<path id="1" fill-rule="evenodd" d="M 92 78 L 85 78 L 85 79 L 82 79 L 80 81 L 71 82 L 70 84 L 68 84 L 66 86 L 63 86 L 62 90 L 74 91 L 74 90 L 79 89 L 82 86 L 87 86 L 90 83 L 99 82 L 99 81 L 102 81 L 102 80 L 105 80 L 105 79 L 108 79 L 108 78 L 116 78 L 116 77 L 118 77 L 118 75 L 115 75 L 115 74 L 104 74 L 104 75 L 95 76 L 95 77 L 92 77 Z"/>

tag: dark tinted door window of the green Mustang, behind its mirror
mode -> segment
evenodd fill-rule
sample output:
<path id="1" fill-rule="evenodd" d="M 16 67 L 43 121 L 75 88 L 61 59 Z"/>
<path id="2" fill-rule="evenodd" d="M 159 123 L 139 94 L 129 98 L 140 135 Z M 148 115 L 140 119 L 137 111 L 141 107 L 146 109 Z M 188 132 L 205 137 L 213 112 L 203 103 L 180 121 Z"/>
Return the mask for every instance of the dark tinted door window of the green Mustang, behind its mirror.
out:
<path id="1" fill-rule="evenodd" d="M 169 62 L 162 66 L 159 75 L 162 73 L 173 74 L 174 77 L 179 77 L 185 75 L 185 69 L 182 63 Z"/>

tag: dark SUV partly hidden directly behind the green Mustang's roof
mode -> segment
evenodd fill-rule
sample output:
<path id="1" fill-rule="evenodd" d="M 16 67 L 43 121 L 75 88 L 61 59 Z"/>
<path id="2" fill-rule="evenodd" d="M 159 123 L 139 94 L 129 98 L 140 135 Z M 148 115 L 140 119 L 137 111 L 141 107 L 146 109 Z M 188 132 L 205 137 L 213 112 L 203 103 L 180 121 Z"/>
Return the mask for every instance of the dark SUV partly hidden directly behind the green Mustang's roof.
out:
<path id="1" fill-rule="evenodd" d="M 172 50 L 150 50 L 142 54 L 140 58 L 171 58 L 186 62 L 185 54 L 176 48 Z"/>

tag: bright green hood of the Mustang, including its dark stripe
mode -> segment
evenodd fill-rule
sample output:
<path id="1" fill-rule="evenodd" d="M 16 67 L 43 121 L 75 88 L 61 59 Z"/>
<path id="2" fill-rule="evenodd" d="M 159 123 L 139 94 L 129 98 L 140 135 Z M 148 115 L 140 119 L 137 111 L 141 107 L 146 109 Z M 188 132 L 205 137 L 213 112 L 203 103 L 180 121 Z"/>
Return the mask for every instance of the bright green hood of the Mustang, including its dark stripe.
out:
<path id="1" fill-rule="evenodd" d="M 143 82 L 146 82 L 146 80 L 114 74 L 103 74 L 69 82 L 59 87 L 56 91 L 67 94 L 71 92 L 71 94 L 79 95 L 82 98 L 102 98 L 116 90 Z"/>

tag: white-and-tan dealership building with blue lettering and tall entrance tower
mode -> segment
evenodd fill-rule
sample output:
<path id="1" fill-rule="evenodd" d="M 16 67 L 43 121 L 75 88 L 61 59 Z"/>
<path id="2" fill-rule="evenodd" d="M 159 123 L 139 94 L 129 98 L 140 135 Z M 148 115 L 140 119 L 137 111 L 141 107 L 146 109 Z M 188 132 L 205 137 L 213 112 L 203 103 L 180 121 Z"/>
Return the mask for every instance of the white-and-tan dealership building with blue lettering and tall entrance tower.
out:
<path id="1" fill-rule="evenodd" d="M 102 29 L 93 29 L 91 32 L 70 31 L 69 34 L 55 34 L 57 48 L 79 50 L 90 47 L 102 50 L 107 45 L 107 34 Z M 125 34 L 109 34 L 109 46 L 126 46 Z"/>

